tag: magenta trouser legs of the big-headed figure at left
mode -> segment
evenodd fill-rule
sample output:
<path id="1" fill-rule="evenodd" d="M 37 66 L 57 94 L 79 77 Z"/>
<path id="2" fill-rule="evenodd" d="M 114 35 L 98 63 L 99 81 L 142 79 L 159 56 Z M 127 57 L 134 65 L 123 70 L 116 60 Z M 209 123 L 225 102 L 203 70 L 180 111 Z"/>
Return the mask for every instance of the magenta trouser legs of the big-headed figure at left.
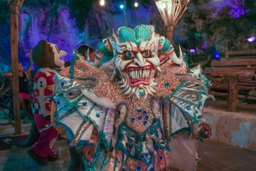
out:
<path id="1" fill-rule="evenodd" d="M 44 128 L 46 124 L 49 124 L 50 121 L 44 119 L 43 114 L 33 114 L 34 121 L 38 130 Z M 32 150 L 39 157 L 49 157 L 54 156 L 56 153 L 54 151 L 55 141 L 58 138 L 58 132 L 54 127 L 50 127 L 40 133 L 38 142 L 33 145 Z"/>

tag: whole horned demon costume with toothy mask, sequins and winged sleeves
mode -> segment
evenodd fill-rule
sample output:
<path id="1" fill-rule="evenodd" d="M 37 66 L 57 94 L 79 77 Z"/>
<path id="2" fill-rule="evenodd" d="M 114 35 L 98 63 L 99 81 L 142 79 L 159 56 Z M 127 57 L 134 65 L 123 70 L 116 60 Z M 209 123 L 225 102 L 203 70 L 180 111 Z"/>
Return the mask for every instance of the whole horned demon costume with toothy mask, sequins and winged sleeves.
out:
<path id="1" fill-rule="evenodd" d="M 96 66 L 104 55 L 112 60 L 102 71 Z M 145 25 L 121 27 L 104 39 L 94 63 L 74 53 L 70 77 L 56 75 L 52 125 L 66 128 L 78 150 L 91 145 L 96 128 L 95 157 L 86 170 L 167 170 L 173 135 L 185 130 L 201 137 L 208 82 L 183 56 Z"/>

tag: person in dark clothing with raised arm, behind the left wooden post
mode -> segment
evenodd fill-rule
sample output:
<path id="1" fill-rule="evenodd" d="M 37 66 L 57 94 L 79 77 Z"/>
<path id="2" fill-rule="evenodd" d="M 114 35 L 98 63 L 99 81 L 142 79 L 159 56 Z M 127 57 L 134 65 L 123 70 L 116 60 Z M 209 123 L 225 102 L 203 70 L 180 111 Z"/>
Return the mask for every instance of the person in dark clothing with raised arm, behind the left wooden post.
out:
<path id="1" fill-rule="evenodd" d="M 29 80 L 31 75 L 31 69 L 32 69 L 32 58 L 31 53 L 32 51 L 29 50 L 28 53 L 30 54 L 30 65 L 27 67 L 26 71 L 23 71 L 23 65 L 21 63 L 18 64 L 18 70 L 19 70 L 19 83 L 20 83 L 20 107 L 23 111 L 26 113 L 25 121 L 32 120 L 32 112 L 28 110 L 30 107 L 32 97 L 30 95 L 29 90 L 31 88 L 29 87 Z M 3 73 L 3 76 L 12 76 L 12 72 Z"/>

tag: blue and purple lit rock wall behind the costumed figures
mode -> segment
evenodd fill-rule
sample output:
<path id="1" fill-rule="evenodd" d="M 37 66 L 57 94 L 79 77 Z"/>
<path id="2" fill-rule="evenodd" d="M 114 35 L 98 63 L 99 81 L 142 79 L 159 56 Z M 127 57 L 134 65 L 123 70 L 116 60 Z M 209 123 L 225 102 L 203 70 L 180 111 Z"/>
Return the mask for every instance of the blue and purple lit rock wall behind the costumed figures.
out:
<path id="1" fill-rule="evenodd" d="M 140 8 L 135 11 L 128 10 L 129 26 L 134 28 L 140 24 L 154 24 L 151 18 L 160 18 L 156 13 L 150 13 L 153 9 Z M 154 9 L 155 12 L 157 10 Z M 85 25 L 84 31 L 79 31 L 75 27 L 75 20 L 69 16 L 69 9 L 62 5 L 57 10 L 57 14 L 50 16 L 49 7 L 40 9 L 31 9 L 22 7 L 19 14 L 19 61 L 25 66 L 29 65 L 28 49 L 32 49 L 40 40 L 45 39 L 49 43 L 55 43 L 62 50 L 67 51 L 67 56 L 63 60 L 71 60 L 73 50 L 81 44 L 89 44 L 96 48 L 97 43 L 102 41 L 102 38 L 109 37 L 113 29 L 116 31 L 120 26 L 125 26 L 124 14 L 108 14 L 106 11 L 96 12 L 96 23 L 100 27 L 100 31 L 94 28 L 93 25 Z M 150 18 L 151 17 L 151 18 Z M 0 54 L 3 59 L 3 67 L 0 67 L 0 73 L 10 71 L 10 32 L 9 32 L 9 13 L 6 14 L 5 25 L 1 26 L 3 32 L 0 33 L 0 50 L 4 53 Z M 159 22 L 159 20 L 158 20 Z M 161 21 L 162 22 L 162 21 Z M 161 23 L 163 25 L 163 23 Z M 156 31 L 161 31 L 165 27 L 156 28 Z M 89 30 L 90 31 L 89 33 Z"/>

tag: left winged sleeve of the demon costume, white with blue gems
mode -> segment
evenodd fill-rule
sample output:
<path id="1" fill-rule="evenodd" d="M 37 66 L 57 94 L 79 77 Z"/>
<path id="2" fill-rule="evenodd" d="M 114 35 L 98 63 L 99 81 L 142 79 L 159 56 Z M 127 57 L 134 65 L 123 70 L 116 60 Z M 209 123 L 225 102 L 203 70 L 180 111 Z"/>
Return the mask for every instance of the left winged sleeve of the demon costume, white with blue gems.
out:
<path id="1" fill-rule="evenodd" d="M 101 142 L 107 147 L 113 134 L 114 98 L 113 89 L 103 85 L 109 79 L 104 72 L 74 54 L 70 77 L 55 74 L 56 105 L 53 125 L 66 129 L 71 145 L 79 150 L 88 145 L 93 129 L 96 128 Z M 51 126 L 51 125 L 49 125 Z"/>

